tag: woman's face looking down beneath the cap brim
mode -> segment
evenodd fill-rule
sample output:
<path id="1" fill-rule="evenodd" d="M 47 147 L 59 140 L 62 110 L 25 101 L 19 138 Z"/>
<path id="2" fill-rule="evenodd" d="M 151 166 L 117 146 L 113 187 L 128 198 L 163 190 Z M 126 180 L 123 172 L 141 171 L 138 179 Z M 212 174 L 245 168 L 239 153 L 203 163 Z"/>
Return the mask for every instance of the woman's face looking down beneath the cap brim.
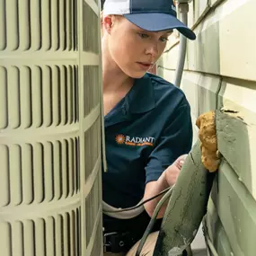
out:
<path id="1" fill-rule="evenodd" d="M 140 78 L 163 54 L 172 31 L 149 32 L 121 16 L 105 17 L 110 58 L 128 76 Z"/>

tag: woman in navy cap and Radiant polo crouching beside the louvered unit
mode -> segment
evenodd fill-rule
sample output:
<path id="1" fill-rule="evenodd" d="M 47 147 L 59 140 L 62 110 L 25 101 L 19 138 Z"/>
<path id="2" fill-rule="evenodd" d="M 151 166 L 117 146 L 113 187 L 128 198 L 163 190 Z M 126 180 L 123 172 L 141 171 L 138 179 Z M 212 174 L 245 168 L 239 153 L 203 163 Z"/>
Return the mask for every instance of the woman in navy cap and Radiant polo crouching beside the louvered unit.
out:
<path id="1" fill-rule="evenodd" d="M 195 39 L 176 19 L 171 0 L 105 1 L 102 78 L 108 172 L 102 173 L 102 186 L 110 206 L 133 207 L 172 186 L 190 151 L 190 105 L 184 93 L 146 73 L 163 54 L 173 29 Z M 144 234 L 158 201 L 146 203 L 146 210 L 132 219 L 103 216 L 105 252 L 135 255 L 136 246 L 131 247 Z M 160 221 L 163 213 L 164 207 Z M 147 256 L 153 255 L 156 237 L 153 233 L 147 240 Z"/>

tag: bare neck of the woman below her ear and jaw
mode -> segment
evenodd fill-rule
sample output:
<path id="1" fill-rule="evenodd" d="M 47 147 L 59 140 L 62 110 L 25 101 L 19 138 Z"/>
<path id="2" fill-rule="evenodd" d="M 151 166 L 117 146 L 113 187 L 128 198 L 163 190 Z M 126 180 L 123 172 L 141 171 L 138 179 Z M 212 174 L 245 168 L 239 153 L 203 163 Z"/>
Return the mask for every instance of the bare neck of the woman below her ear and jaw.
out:
<path id="1" fill-rule="evenodd" d="M 102 44 L 106 45 L 106 44 Z M 102 47 L 102 83 L 103 92 L 117 92 L 133 84 L 133 78 L 126 75 L 110 57 L 107 47 Z"/>

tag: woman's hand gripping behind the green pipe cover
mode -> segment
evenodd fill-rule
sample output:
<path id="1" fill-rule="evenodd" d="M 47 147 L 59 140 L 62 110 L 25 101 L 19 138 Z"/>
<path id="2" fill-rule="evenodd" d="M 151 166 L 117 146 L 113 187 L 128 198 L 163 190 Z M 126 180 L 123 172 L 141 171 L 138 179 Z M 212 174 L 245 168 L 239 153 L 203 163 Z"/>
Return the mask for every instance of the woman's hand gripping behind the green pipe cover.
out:
<path id="1" fill-rule="evenodd" d="M 183 163 L 185 162 L 185 159 L 187 157 L 188 154 L 182 154 L 179 158 L 177 158 L 175 160 L 174 163 L 172 163 L 172 165 L 170 165 L 165 171 L 165 181 L 168 183 L 168 186 L 173 186 L 177 179 L 178 176 L 181 172 L 181 167 L 183 165 Z"/>

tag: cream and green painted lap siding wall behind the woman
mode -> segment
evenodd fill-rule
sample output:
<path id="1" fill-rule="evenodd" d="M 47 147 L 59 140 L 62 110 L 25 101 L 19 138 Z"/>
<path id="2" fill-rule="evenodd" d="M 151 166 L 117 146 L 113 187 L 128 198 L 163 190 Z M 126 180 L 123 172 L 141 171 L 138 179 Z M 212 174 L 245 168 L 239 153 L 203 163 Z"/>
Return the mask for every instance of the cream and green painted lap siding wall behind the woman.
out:
<path id="1" fill-rule="evenodd" d="M 194 0 L 190 4 L 189 24 L 197 40 L 188 42 L 181 88 L 190 101 L 193 123 L 208 110 L 229 113 L 218 120 L 218 148 L 224 158 L 208 203 L 207 243 L 215 248 L 208 249 L 208 255 L 252 256 L 256 252 L 255 10 L 254 0 Z M 176 33 L 157 68 L 158 75 L 170 82 L 178 50 Z M 197 132 L 194 126 L 194 141 Z"/>

